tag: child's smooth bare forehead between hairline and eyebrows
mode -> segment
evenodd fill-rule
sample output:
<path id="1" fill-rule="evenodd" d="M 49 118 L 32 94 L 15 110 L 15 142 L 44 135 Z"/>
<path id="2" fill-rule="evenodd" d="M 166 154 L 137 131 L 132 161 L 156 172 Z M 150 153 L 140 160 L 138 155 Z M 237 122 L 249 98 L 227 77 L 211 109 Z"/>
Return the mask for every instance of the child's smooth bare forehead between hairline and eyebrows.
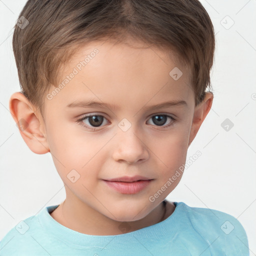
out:
<path id="1" fill-rule="evenodd" d="M 67 105 L 97 99 L 127 106 L 191 101 L 190 70 L 176 60 L 174 52 L 171 58 L 166 50 L 139 41 L 91 41 L 60 69 L 57 85 L 62 86 L 51 102 Z"/>

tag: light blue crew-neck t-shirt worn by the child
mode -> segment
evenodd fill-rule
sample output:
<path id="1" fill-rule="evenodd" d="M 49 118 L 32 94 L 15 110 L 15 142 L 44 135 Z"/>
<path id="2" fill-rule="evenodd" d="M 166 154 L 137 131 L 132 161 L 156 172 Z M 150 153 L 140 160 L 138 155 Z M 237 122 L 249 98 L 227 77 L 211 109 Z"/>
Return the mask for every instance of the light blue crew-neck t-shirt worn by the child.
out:
<path id="1" fill-rule="evenodd" d="M 240 222 L 213 209 L 174 202 L 165 220 L 117 235 L 89 235 L 69 229 L 45 207 L 13 227 L 0 241 L 0 256 L 248 256 L 248 240 Z M 125 228 L 125 223 L 124 223 Z"/>

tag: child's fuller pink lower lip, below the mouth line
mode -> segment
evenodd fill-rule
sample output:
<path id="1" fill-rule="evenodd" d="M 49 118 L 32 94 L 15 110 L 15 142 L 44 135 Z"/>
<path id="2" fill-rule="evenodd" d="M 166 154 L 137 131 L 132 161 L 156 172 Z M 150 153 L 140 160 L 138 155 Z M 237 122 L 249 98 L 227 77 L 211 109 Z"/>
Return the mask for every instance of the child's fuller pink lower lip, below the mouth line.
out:
<path id="1" fill-rule="evenodd" d="M 108 186 L 122 194 L 135 194 L 148 186 L 152 179 L 138 180 L 134 182 L 108 181 L 103 180 Z"/>

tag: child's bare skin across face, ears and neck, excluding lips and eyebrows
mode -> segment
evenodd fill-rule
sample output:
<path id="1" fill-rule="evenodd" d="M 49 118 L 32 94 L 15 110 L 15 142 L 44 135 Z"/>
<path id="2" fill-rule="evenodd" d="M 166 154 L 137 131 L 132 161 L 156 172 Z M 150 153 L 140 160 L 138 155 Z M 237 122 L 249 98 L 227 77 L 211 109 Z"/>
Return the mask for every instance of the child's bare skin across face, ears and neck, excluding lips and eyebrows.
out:
<path id="1" fill-rule="evenodd" d="M 27 122 L 19 131 L 28 147 L 34 153 L 52 155 L 66 198 L 50 215 L 70 229 L 91 235 L 121 234 L 120 224 L 130 232 L 166 219 L 174 211 L 172 202 L 167 203 L 166 212 L 161 202 L 182 175 L 153 202 L 149 196 L 185 163 L 187 148 L 210 110 L 213 95 L 206 93 L 195 107 L 187 66 L 167 58 L 164 50 L 147 46 L 110 40 L 84 45 L 62 66 L 61 81 L 86 54 L 94 48 L 99 52 L 52 99 L 45 98 L 44 119 L 22 93 L 10 97 L 15 122 Z M 175 66 L 183 73 L 178 80 L 169 75 Z M 66 107 L 87 99 L 116 104 L 118 109 Z M 169 100 L 185 100 L 187 105 L 145 109 Z M 76 122 L 89 113 L 104 117 L 95 130 Z M 163 124 L 153 122 L 159 113 L 176 121 L 167 117 Z M 123 118 L 131 124 L 126 131 L 118 127 Z M 88 119 L 83 123 L 93 128 Z M 80 175 L 74 183 L 67 178 L 72 169 Z M 153 180 L 136 194 L 119 193 L 102 181 L 124 175 Z"/>

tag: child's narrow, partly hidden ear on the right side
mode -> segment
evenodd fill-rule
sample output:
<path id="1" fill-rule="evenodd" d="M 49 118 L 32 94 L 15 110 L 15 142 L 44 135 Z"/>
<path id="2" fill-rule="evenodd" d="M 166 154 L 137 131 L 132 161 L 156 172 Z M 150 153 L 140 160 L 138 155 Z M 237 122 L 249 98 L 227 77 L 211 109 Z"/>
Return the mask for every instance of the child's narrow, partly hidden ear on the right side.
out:
<path id="1" fill-rule="evenodd" d="M 188 146 L 193 141 L 197 131 L 199 130 L 204 118 L 208 114 L 213 100 L 213 94 L 211 92 L 205 92 L 204 100 L 194 108 L 194 114 L 189 134 Z"/>

